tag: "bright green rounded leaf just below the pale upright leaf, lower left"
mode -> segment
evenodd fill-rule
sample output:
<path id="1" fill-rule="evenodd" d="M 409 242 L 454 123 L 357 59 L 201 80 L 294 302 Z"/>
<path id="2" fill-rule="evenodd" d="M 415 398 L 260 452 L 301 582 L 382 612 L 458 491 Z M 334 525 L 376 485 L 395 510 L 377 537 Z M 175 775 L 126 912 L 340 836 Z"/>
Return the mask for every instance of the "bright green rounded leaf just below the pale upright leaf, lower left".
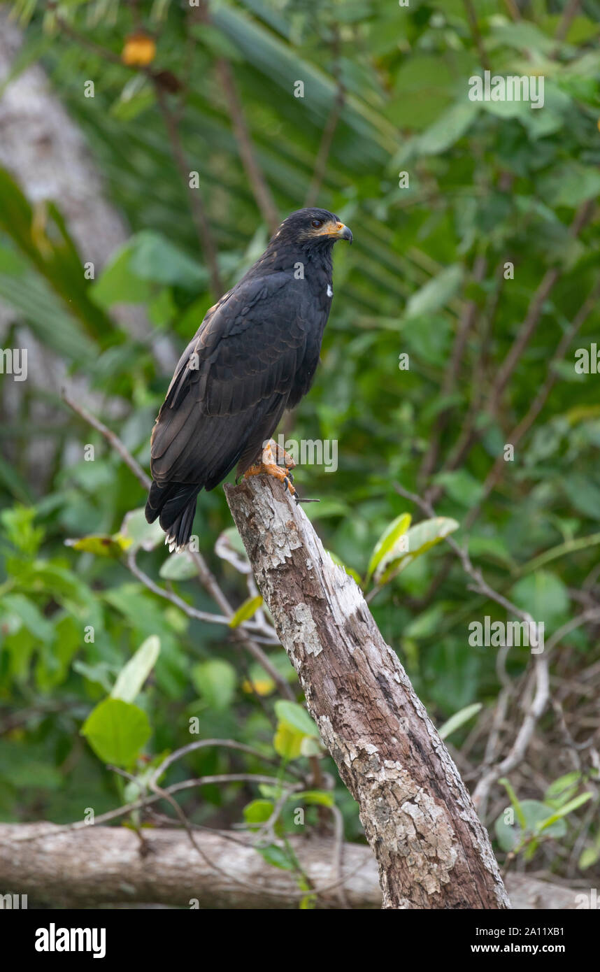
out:
<path id="1" fill-rule="evenodd" d="M 89 713 L 81 732 L 103 762 L 126 768 L 148 742 L 152 729 L 146 712 L 137 706 L 105 699 Z"/>

